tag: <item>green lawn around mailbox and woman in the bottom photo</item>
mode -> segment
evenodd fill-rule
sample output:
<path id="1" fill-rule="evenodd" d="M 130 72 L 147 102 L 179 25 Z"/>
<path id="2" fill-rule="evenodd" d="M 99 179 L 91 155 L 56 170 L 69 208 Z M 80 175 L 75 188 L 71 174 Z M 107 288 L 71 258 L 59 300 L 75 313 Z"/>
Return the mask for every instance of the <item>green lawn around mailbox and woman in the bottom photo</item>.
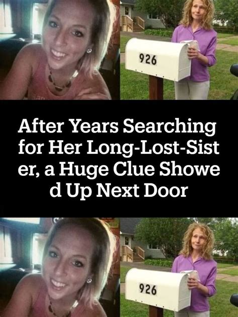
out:
<path id="1" fill-rule="evenodd" d="M 237 283 L 217 281 L 217 293 L 209 298 L 210 317 L 237 317 L 237 307 L 229 302 L 232 294 L 237 293 Z M 148 317 L 148 305 L 126 300 L 121 294 L 121 317 Z M 170 310 L 164 309 L 164 317 L 174 317 Z"/>

